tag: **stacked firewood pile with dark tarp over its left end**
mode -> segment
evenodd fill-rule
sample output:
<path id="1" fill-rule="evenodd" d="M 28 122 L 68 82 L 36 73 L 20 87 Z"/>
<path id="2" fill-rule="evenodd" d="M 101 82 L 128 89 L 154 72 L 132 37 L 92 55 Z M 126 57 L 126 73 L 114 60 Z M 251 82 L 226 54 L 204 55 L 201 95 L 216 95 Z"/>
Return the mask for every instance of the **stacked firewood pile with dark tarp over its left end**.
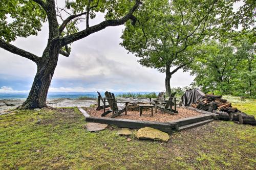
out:
<path id="1" fill-rule="evenodd" d="M 219 114 L 222 120 L 233 120 L 243 124 L 256 125 L 254 116 L 241 112 L 222 95 L 204 94 L 199 89 L 187 90 L 181 97 L 183 106 L 190 106 Z M 239 118 L 240 116 L 240 118 Z"/>

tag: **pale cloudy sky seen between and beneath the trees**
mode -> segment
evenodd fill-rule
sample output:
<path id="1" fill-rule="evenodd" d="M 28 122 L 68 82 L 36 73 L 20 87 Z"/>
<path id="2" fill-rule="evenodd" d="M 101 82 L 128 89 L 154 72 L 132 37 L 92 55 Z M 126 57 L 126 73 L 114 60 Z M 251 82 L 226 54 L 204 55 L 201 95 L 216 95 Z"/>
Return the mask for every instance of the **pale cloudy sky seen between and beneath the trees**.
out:
<path id="1" fill-rule="evenodd" d="M 102 19 L 103 15 L 98 15 L 90 25 Z M 119 45 L 123 29 L 124 26 L 109 27 L 73 43 L 70 57 L 59 55 L 49 91 L 163 91 L 165 75 L 142 67 L 133 54 L 127 54 Z M 47 38 L 48 24 L 44 23 L 38 36 L 17 38 L 12 44 L 41 56 Z M 0 61 L 0 92 L 28 92 L 36 64 L 2 48 Z M 171 86 L 188 86 L 193 79 L 189 72 L 180 70 L 173 76 Z"/>

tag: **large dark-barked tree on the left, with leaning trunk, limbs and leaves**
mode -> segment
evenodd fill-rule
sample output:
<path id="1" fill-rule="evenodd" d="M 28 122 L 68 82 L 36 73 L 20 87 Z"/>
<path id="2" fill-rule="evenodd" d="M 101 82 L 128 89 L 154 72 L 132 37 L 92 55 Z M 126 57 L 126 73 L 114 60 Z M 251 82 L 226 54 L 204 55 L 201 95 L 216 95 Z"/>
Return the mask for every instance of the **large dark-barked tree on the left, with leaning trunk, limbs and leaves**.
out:
<path id="1" fill-rule="evenodd" d="M 70 44 L 110 26 L 123 25 L 136 17 L 133 13 L 140 1 L 115 0 L 66 0 L 65 7 L 59 8 L 54 0 L 1 0 L 0 1 L 0 47 L 32 60 L 37 72 L 27 100 L 21 108 L 45 107 L 49 85 L 56 68 L 59 54 L 68 57 Z M 105 13 L 104 21 L 90 26 L 98 12 Z M 42 22 L 48 21 L 49 37 L 41 56 L 22 50 L 10 42 L 17 37 L 37 35 Z M 78 29 L 81 21 L 86 28 Z"/>

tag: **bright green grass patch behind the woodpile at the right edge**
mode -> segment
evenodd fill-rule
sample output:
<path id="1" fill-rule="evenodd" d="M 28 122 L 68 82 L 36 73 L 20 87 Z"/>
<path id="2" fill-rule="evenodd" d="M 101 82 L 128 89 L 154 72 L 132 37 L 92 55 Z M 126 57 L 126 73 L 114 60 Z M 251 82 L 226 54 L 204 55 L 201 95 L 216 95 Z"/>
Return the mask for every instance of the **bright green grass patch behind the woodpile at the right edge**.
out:
<path id="1" fill-rule="evenodd" d="M 235 96 L 223 96 L 222 99 L 227 99 L 232 103 L 232 107 L 237 107 L 238 110 L 245 112 L 246 114 L 256 116 L 256 100 L 255 99 L 245 99 L 241 101 L 239 97 Z"/>

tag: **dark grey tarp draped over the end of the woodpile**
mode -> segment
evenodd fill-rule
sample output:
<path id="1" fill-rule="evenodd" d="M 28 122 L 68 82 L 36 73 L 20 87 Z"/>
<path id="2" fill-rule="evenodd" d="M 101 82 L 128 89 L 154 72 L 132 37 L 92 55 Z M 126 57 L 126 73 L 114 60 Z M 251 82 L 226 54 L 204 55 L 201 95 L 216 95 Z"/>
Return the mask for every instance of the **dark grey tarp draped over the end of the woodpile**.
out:
<path id="1" fill-rule="evenodd" d="M 181 96 L 181 102 L 183 106 L 191 106 L 192 103 L 196 103 L 198 100 L 203 99 L 205 94 L 197 89 L 190 89 L 187 90 L 182 96 Z"/>

